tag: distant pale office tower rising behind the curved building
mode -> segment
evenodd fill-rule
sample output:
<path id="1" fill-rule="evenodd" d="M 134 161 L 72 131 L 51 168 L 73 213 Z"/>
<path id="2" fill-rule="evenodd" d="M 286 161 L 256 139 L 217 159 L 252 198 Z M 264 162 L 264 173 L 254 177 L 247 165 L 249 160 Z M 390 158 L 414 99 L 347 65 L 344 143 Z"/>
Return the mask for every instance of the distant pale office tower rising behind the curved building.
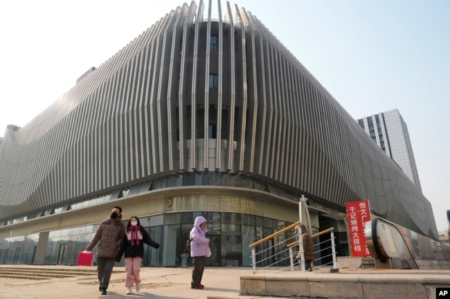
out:
<path id="1" fill-rule="evenodd" d="M 359 125 L 379 147 L 393 159 L 420 191 L 419 173 L 415 166 L 408 126 L 399 110 L 393 109 L 358 119 Z"/>

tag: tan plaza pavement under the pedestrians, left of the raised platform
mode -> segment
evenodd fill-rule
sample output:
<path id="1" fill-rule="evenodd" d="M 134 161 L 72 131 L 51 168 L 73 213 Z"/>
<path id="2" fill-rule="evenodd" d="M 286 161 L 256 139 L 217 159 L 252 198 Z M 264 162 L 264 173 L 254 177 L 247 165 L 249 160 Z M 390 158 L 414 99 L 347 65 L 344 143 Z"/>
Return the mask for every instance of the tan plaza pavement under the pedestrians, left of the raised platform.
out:
<path id="1" fill-rule="evenodd" d="M 18 266 L 19 267 L 19 266 Z M 74 266 L 76 267 L 76 266 Z M 70 267 L 73 269 L 74 267 Z M 92 267 L 96 269 L 96 267 Z M 114 267 L 114 270 L 123 267 Z M 240 276 L 251 275 L 249 267 L 207 267 L 204 271 L 202 290 L 191 289 L 190 268 L 143 267 L 141 269 L 141 291 L 126 295 L 125 272 L 113 273 L 108 287 L 108 295 L 102 296 L 98 291 L 98 279 L 93 276 L 73 278 L 51 278 L 48 280 L 23 280 L 17 278 L 0 278 L 0 299 L 84 299 L 84 298 L 154 298 L 183 299 L 237 297 L 240 293 Z M 261 296 L 258 296 L 261 298 Z"/>

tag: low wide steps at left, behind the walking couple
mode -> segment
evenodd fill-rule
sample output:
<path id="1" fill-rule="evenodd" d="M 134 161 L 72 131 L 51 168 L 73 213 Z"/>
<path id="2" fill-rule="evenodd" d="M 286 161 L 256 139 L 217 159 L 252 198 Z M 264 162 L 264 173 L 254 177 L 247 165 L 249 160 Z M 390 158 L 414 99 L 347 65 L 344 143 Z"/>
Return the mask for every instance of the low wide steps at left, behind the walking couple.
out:
<path id="1" fill-rule="evenodd" d="M 113 270 L 113 273 L 123 273 L 123 271 Z M 96 267 L 65 267 L 65 266 L 6 266 L 0 267 L 0 277 L 46 280 L 51 278 L 71 278 L 75 276 L 96 276 Z"/>

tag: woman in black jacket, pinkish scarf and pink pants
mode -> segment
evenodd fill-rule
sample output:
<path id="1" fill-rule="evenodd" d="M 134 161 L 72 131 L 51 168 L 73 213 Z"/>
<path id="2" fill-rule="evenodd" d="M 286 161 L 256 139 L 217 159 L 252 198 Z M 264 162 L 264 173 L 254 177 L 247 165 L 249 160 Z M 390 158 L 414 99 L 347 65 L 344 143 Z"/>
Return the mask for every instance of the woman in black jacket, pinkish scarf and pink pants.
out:
<path id="1" fill-rule="evenodd" d="M 152 240 L 141 226 L 139 218 L 133 216 L 129 218 L 127 231 L 116 255 L 116 262 L 120 262 L 123 253 L 125 253 L 125 270 L 127 271 L 125 287 L 127 287 L 127 294 L 132 293 L 133 282 L 136 284 L 136 292 L 141 290 L 140 272 L 141 260 L 144 256 L 144 243 L 156 249 L 159 248 L 159 244 Z"/>

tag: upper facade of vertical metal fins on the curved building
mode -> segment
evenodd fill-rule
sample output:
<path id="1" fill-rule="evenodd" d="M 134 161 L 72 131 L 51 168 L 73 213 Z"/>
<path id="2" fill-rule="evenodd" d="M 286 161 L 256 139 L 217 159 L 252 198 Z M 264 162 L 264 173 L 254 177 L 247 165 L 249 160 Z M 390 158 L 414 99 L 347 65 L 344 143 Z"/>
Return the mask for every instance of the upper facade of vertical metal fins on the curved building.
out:
<path id="1" fill-rule="evenodd" d="M 424 235 L 431 204 L 251 12 L 172 10 L 0 141 L 0 219 L 156 177 L 258 177 Z"/>

